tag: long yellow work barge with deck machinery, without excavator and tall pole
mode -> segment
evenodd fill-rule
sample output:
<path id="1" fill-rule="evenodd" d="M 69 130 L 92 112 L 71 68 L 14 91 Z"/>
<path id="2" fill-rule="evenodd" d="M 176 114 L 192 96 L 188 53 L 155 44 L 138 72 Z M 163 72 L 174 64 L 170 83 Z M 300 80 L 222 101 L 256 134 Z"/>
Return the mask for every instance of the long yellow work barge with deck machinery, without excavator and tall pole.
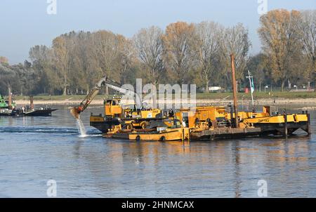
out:
<path id="1" fill-rule="evenodd" d="M 195 111 L 182 109 L 172 117 L 150 121 L 146 128 L 126 128 L 124 121 L 103 133 L 105 138 L 127 140 L 216 140 L 262 136 L 286 137 L 298 129 L 310 135 L 310 114 L 270 114 L 271 107 L 263 112 L 226 112 L 225 107 L 197 107 Z M 91 114 L 93 124 L 93 114 Z M 237 126 L 238 124 L 238 126 Z"/>

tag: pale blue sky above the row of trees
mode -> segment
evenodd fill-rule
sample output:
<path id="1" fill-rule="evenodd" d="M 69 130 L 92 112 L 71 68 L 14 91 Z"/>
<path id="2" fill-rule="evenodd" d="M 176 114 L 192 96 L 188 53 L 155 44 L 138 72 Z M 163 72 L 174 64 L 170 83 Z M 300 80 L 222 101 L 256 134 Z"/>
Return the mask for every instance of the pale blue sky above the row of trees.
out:
<path id="1" fill-rule="evenodd" d="M 0 55 L 11 63 L 28 59 L 29 48 L 51 46 L 53 38 L 72 30 L 108 29 L 132 37 L 140 28 L 171 22 L 213 20 L 226 27 L 242 22 L 249 29 L 251 53 L 261 50 L 258 0 L 56 0 L 57 14 L 48 15 L 47 0 L 0 1 Z M 259 0 L 261 1 L 261 0 Z M 267 0 L 275 8 L 316 9 L 315 0 Z"/>

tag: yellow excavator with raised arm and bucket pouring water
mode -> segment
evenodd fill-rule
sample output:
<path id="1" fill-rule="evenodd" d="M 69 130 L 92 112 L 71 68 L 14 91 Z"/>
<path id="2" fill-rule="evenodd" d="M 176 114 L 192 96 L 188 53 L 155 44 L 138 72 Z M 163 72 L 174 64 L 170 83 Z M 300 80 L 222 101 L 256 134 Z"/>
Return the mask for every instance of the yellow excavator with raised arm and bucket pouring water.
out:
<path id="1" fill-rule="evenodd" d="M 128 95 L 138 104 L 133 105 L 122 105 L 120 98 L 111 98 L 104 101 L 105 116 L 102 115 L 94 116 L 91 114 L 90 125 L 97 128 L 103 133 L 112 128 L 112 126 L 117 126 L 121 124 L 124 128 L 146 128 L 149 126 L 150 121 L 163 119 L 163 110 L 160 109 L 145 109 L 143 107 L 143 102 L 141 102 L 140 95 L 134 91 L 126 88 L 122 88 L 117 82 L 112 81 L 107 76 L 103 77 L 98 81 L 96 86 L 94 86 L 91 91 L 86 95 L 86 98 L 82 100 L 78 107 L 73 107 L 70 110 L 72 116 L 79 119 L 81 112 L 84 112 L 92 100 L 98 95 L 99 91 L 103 86 L 118 91 L 123 95 Z M 137 107 L 140 105 L 140 108 Z"/>

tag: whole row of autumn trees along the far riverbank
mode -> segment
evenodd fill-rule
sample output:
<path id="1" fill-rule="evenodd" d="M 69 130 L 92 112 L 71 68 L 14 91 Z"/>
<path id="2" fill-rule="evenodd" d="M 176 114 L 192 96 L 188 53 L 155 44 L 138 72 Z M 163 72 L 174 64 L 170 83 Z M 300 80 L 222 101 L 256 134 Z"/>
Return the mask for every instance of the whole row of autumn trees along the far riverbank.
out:
<path id="1" fill-rule="evenodd" d="M 316 11 L 270 11 L 261 16 L 258 34 L 262 51 L 249 55 L 242 24 L 175 22 L 164 30 L 140 29 L 131 39 L 106 30 L 69 32 L 51 47 L 30 48 L 24 64 L 0 57 L 0 93 L 11 86 L 17 95 L 81 94 L 105 74 L 119 84 L 141 78 L 143 84 L 197 84 L 204 92 L 209 86 L 230 89 L 230 53 L 239 88 L 248 85 L 248 70 L 256 88 L 315 85 Z"/>

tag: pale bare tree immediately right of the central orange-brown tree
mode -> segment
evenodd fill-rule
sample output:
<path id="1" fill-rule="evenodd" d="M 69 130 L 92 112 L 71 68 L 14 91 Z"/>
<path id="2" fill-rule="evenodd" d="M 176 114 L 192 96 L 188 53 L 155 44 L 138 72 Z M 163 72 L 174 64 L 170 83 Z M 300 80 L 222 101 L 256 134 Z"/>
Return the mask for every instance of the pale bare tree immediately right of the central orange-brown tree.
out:
<path id="1" fill-rule="evenodd" d="M 216 68 L 220 51 L 220 25 L 216 22 L 201 22 L 195 25 L 194 54 L 198 64 L 199 77 L 209 93 L 209 81 Z"/>

